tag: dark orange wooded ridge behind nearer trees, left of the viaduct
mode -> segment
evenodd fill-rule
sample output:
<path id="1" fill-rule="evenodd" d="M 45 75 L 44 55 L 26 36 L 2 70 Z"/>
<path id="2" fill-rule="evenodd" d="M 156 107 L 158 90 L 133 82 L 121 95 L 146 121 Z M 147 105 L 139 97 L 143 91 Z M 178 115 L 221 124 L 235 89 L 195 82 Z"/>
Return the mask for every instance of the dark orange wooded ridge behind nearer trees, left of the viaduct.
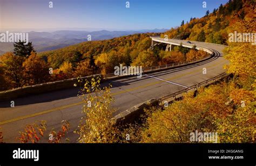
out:
<path id="1" fill-rule="evenodd" d="M 159 33 L 133 34 L 108 40 L 87 41 L 62 49 L 43 52 L 39 55 L 47 57 L 48 62 L 54 69 L 60 67 L 64 61 L 75 64 L 85 59 L 90 60 L 90 64 L 95 66 L 97 56 L 102 53 L 116 51 L 118 52 L 118 56 L 130 56 L 130 53 L 134 49 L 139 49 L 139 52 L 143 49 L 147 50 L 151 45 L 151 40 L 149 38 L 151 35 L 159 35 Z M 134 53 L 135 50 L 133 51 Z M 130 59 L 130 57 L 127 57 L 127 59 Z M 122 59 L 119 61 L 122 61 Z"/>

